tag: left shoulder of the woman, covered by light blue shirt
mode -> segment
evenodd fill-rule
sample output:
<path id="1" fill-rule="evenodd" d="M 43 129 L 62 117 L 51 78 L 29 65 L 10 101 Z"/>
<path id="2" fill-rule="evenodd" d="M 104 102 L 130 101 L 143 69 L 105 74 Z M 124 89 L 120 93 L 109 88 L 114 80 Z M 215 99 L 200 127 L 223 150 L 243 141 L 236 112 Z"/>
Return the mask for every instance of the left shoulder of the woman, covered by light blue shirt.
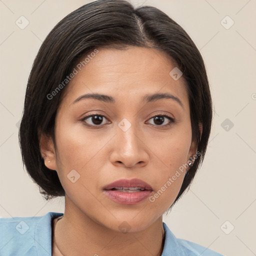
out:
<path id="1" fill-rule="evenodd" d="M 51 250 L 51 220 L 62 214 L 0 218 L 0 255 L 37 255 L 40 246 Z"/>

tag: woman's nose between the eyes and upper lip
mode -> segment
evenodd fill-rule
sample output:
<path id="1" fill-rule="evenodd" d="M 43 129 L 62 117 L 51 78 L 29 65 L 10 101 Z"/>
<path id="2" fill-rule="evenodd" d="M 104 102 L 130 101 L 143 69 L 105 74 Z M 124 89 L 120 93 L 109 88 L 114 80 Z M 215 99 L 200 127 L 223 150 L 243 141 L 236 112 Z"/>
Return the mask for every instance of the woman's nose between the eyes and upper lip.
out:
<path id="1" fill-rule="evenodd" d="M 110 161 L 113 165 L 132 168 L 142 167 L 148 163 L 149 155 L 147 152 L 149 149 L 135 125 L 131 125 L 126 131 L 117 127 L 114 139 L 110 154 Z"/>

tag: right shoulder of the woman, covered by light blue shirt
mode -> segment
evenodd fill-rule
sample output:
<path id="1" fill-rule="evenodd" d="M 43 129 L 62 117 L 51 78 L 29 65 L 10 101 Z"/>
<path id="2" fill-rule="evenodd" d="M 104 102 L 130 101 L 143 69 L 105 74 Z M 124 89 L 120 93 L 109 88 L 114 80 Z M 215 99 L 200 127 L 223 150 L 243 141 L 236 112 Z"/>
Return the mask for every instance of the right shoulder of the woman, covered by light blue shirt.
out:
<path id="1" fill-rule="evenodd" d="M 164 222 L 163 228 L 165 240 L 162 256 L 223 256 L 197 243 L 176 238 Z"/>

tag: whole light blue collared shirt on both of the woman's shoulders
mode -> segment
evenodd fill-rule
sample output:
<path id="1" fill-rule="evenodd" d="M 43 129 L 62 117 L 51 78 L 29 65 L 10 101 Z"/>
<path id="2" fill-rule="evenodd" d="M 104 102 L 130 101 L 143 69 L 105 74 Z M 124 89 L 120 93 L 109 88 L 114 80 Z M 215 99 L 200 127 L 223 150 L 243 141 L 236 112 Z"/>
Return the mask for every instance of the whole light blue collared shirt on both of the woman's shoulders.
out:
<path id="1" fill-rule="evenodd" d="M 52 219 L 63 215 L 48 212 L 43 216 L 0 218 L 0 256 L 51 255 Z M 163 222 L 165 231 L 162 256 L 223 256 L 194 242 L 179 239 Z"/>

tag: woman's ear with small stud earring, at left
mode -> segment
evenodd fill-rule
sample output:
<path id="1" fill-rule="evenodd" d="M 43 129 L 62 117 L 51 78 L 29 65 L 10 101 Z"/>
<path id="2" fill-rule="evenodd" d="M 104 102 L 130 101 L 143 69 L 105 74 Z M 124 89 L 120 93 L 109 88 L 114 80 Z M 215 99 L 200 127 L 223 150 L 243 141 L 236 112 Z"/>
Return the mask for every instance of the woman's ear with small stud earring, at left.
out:
<path id="1" fill-rule="evenodd" d="M 39 136 L 39 148 L 44 165 L 52 170 L 57 169 L 56 154 L 52 138 L 49 135 L 41 134 Z"/>

